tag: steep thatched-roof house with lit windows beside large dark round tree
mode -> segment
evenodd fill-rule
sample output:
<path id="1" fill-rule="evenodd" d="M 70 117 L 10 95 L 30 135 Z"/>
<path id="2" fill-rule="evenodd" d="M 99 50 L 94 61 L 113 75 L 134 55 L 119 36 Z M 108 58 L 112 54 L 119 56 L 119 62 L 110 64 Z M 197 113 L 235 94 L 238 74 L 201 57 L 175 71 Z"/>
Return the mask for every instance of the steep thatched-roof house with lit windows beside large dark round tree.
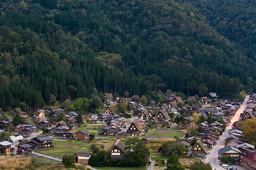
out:
<path id="1" fill-rule="evenodd" d="M 111 159 L 126 159 L 124 148 L 124 143 L 121 140 L 117 140 L 107 152 L 110 154 Z"/>

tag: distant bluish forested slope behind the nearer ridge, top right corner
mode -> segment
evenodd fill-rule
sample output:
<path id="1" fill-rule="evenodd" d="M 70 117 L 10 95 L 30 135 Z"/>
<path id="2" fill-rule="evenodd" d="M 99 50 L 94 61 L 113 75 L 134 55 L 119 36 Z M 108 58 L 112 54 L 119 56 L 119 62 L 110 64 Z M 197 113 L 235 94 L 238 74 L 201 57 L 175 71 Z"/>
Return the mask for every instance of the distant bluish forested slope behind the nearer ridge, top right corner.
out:
<path id="1" fill-rule="evenodd" d="M 191 1 L 203 9 L 211 26 L 225 38 L 242 46 L 243 54 L 249 62 L 255 63 L 256 45 L 256 2 L 250 0 Z M 255 66 L 255 65 L 254 65 Z"/>

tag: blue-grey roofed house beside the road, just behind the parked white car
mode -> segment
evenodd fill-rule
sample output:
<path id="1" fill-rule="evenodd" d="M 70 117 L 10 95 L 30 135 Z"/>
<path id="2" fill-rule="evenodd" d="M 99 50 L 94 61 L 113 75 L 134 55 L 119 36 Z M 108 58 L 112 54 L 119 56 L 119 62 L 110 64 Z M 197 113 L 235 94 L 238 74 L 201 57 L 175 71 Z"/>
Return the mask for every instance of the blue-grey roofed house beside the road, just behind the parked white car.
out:
<path id="1" fill-rule="evenodd" d="M 220 159 L 223 157 L 231 157 L 233 160 L 238 161 L 241 157 L 242 152 L 239 149 L 231 146 L 226 146 L 218 151 Z"/>

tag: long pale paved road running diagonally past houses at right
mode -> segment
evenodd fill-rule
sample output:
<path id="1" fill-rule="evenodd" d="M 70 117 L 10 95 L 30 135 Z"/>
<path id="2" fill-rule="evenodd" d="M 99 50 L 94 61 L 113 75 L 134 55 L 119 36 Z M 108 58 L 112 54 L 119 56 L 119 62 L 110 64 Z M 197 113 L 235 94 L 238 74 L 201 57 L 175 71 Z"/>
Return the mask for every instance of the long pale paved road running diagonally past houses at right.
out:
<path id="1" fill-rule="evenodd" d="M 220 136 L 220 140 L 218 140 L 217 145 L 213 147 L 213 150 L 210 152 L 210 154 L 206 158 L 206 162 L 210 163 L 212 166 L 212 169 L 223 169 L 220 166 L 220 161 L 218 160 L 218 150 L 225 147 L 224 140 L 225 137 L 228 137 L 228 132 L 232 128 L 232 124 L 240 118 L 240 113 L 242 113 L 246 108 L 246 102 L 249 99 L 249 96 L 246 96 L 244 103 L 242 103 L 242 106 L 240 109 L 235 113 L 233 119 L 231 120 L 231 123 L 228 124 L 228 127 L 226 128 L 225 132 L 223 132 L 223 135 Z"/>

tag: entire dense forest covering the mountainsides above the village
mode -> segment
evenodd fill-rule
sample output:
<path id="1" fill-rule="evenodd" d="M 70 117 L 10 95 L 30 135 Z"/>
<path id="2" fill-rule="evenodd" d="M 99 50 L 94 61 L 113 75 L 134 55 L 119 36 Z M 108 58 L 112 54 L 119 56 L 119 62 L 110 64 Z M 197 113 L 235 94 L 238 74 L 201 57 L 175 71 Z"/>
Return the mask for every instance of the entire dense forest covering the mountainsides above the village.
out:
<path id="1" fill-rule="evenodd" d="M 0 108 L 34 110 L 50 94 L 61 102 L 158 89 L 238 98 L 242 90 L 255 90 L 254 6 L 230 0 L 1 0 Z"/>

